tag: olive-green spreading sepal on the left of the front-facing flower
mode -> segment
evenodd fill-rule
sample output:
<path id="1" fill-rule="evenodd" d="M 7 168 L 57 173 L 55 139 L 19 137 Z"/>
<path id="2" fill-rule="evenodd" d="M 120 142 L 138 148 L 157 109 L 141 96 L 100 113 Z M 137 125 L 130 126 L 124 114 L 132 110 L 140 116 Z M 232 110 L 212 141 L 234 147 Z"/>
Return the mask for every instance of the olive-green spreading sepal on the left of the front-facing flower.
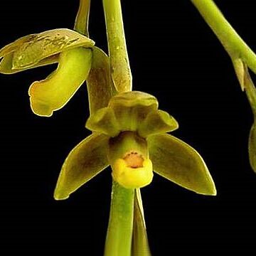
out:
<path id="1" fill-rule="evenodd" d="M 56 200 L 68 198 L 71 193 L 109 165 L 108 139 L 103 134 L 92 134 L 70 151 L 60 171 L 54 191 Z"/>

